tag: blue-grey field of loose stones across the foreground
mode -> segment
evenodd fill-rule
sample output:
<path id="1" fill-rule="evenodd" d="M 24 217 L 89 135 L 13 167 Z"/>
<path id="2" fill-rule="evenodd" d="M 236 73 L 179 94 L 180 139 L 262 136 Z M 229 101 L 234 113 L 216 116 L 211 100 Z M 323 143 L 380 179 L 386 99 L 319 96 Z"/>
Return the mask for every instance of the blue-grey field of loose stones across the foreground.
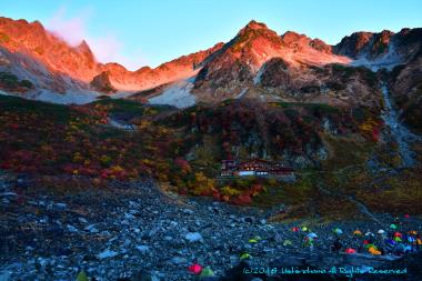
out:
<path id="1" fill-rule="evenodd" d="M 280 257 L 330 254 L 338 237 L 333 228 L 343 231 L 339 237 L 344 248 L 361 248 L 365 237 L 353 237 L 355 229 L 375 233 L 375 244 L 381 245 L 376 231 L 388 230 L 393 221 L 383 214 L 378 215 L 382 225 L 373 221 L 308 225 L 318 234 L 310 249 L 303 245 L 309 231 L 291 230 L 307 225 L 304 221 L 267 221 L 282 207 L 263 211 L 182 198 L 162 192 L 151 180 L 115 182 L 107 190 L 87 189 L 74 195 L 28 187 L 2 192 L 0 280 L 76 280 L 80 270 L 94 280 L 198 280 L 188 271 L 192 263 L 222 277 L 245 252 L 252 268 L 269 267 Z M 399 224 L 399 230 L 411 229 L 422 231 L 421 221 L 409 218 Z M 250 241 L 253 238 L 257 242 Z M 292 244 L 284 245 L 285 240 Z"/>

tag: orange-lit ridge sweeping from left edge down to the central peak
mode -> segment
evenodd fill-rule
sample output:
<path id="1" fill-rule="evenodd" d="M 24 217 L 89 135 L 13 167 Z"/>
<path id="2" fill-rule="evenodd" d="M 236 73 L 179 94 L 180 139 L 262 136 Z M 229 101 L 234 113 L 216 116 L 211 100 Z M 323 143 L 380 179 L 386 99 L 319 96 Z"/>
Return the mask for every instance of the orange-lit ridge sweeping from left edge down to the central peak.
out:
<path id="1" fill-rule="evenodd" d="M 113 88 L 129 91 L 192 77 L 222 43 L 183 56 L 155 69 L 129 71 L 118 63 L 97 62 L 86 41 L 71 47 L 38 21 L 29 23 L 26 20 L 0 18 L 0 47 L 4 50 L 1 67 L 8 64 L 10 71 L 31 80 L 39 88 L 63 92 L 67 89 L 90 89 L 92 79 L 103 71 L 108 71 Z M 22 61 L 29 67 L 19 67 Z"/>

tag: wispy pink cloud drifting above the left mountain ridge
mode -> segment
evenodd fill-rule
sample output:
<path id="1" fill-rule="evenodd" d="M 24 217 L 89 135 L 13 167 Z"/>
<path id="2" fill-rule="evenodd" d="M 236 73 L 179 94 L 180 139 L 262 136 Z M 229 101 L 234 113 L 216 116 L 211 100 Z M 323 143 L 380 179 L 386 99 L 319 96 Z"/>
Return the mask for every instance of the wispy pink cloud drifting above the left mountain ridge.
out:
<path id="1" fill-rule="evenodd" d="M 141 50 L 125 53 L 124 44 L 113 32 L 108 30 L 103 34 L 90 34 L 87 28 L 90 14 L 90 10 L 83 10 L 73 17 L 67 17 L 66 9 L 60 8 L 47 21 L 46 28 L 73 47 L 86 40 L 100 62 L 118 62 L 129 70 L 137 70 L 147 64 Z"/>

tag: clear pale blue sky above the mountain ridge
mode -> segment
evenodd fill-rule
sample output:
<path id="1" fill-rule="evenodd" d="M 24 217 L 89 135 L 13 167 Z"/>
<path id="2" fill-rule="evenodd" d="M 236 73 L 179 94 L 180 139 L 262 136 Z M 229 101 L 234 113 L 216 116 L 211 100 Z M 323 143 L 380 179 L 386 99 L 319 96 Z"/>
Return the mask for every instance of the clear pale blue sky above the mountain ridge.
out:
<path id="1" fill-rule="evenodd" d="M 340 3 L 343 2 L 343 3 Z M 354 31 L 422 27 L 421 0 L 0 0 L 0 16 L 39 20 L 102 62 L 131 70 L 229 41 L 251 19 L 328 43 Z"/>

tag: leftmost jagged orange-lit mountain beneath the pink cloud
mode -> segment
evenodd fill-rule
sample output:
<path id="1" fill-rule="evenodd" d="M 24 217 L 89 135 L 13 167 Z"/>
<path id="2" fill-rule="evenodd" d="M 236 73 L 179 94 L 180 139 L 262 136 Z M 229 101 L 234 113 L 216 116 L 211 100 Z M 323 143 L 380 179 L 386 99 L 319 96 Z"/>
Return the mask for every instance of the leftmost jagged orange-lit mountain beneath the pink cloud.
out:
<path id="1" fill-rule="evenodd" d="M 34 89 L 88 89 L 97 62 L 86 42 L 70 47 L 40 22 L 0 18 L 0 71 L 29 80 Z"/>

